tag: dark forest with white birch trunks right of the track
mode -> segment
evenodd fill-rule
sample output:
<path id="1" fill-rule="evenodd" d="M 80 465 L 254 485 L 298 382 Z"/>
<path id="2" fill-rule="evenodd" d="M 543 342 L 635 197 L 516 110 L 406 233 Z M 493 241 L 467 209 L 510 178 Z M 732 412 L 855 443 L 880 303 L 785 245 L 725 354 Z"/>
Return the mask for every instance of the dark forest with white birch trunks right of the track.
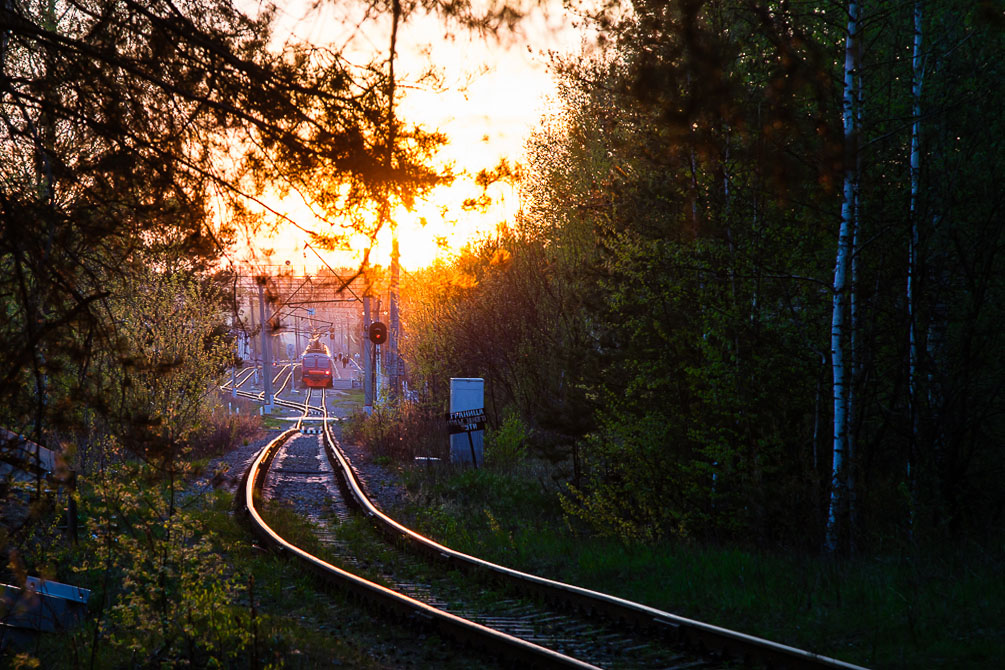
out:
<path id="1" fill-rule="evenodd" d="M 413 373 L 484 377 L 625 541 L 999 542 L 1000 8 L 632 8 L 485 173 L 519 219 L 414 281 Z"/>

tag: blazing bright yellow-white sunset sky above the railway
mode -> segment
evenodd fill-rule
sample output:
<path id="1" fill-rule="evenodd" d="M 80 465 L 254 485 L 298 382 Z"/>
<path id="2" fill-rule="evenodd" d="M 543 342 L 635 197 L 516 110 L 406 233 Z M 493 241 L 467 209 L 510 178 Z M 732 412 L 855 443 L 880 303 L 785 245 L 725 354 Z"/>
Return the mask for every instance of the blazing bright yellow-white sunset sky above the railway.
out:
<path id="1" fill-rule="evenodd" d="M 476 197 L 480 189 L 473 176 L 493 168 L 500 158 L 511 163 L 522 159 L 524 143 L 548 107 L 555 86 L 547 62 L 548 51 L 578 50 L 581 37 L 573 28 L 561 2 L 546 11 L 532 10 L 513 34 L 498 39 L 447 30 L 430 17 L 419 17 L 399 28 L 399 57 L 396 78 L 402 96 L 396 114 L 411 123 L 446 134 L 449 143 L 437 161 L 452 163 L 460 179 L 450 187 L 437 189 L 413 212 L 403 208 L 395 213 L 401 248 L 401 263 L 414 270 L 436 256 L 449 255 L 468 240 L 490 232 L 500 222 L 512 221 L 519 196 L 498 186 L 489 190 L 492 206 L 485 213 L 466 212 L 460 207 L 465 198 Z M 263 3 L 238 3 L 254 15 Z M 357 3 L 334 0 L 279 0 L 276 39 L 290 37 L 316 44 L 335 45 L 357 63 L 369 61 L 379 50 L 386 53 L 390 19 L 360 22 Z M 440 73 L 436 90 L 416 85 L 418 74 L 433 64 Z M 466 177 L 464 176 L 466 174 Z M 305 227 L 316 222 L 308 210 L 292 199 L 270 203 Z M 424 221 L 424 225 L 420 225 Z M 259 248 L 273 248 L 272 262 L 290 261 L 297 269 L 313 271 L 321 261 L 304 247 L 305 237 L 286 224 L 280 236 L 256 240 Z M 324 254 L 333 266 L 353 266 L 359 262 L 363 240 L 354 244 L 355 256 Z M 390 262 L 390 230 L 378 238 L 371 262 Z"/>

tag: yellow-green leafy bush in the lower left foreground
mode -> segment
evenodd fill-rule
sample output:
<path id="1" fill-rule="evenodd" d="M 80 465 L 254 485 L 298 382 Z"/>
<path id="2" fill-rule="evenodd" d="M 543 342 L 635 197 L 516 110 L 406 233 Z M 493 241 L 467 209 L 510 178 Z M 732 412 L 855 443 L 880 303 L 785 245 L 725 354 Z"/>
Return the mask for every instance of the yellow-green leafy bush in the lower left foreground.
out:
<path id="1" fill-rule="evenodd" d="M 120 462 L 88 480 L 80 497 L 86 540 L 74 583 L 95 588 L 92 653 L 140 666 L 232 666 L 251 640 L 246 594 L 203 517 L 182 507 L 150 466 Z M 138 485 L 140 484 L 140 485 Z"/>

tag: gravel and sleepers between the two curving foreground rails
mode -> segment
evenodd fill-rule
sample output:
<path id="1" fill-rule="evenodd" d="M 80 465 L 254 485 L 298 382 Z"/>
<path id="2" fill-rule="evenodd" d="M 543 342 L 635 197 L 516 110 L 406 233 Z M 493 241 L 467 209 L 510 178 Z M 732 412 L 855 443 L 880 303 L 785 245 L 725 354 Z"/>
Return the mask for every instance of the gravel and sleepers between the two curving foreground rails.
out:
<path id="1" fill-rule="evenodd" d="M 445 571 L 442 566 L 427 564 L 396 549 L 369 527 L 366 519 L 348 514 L 323 448 L 321 436 L 290 438 L 272 461 L 262 495 L 281 501 L 311 519 L 318 528 L 319 539 L 329 549 L 330 554 L 325 557 L 333 565 L 438 610 L 600 667 L 734 667 L 709 656 L 684 652 L 679 646 L 651 635 L 639 638 L 620 625 L 587 619 L 538 600 L 496 591 L 469 576 Z M 366 480 L 369 492 L 376 497 L 375 491 L 381 491 L 382 505 L 393 506 L 400 489 L 396 490 L 390 481 L 391 475 L 372 463 L 364 465 L 366 459 L 358 458 L 362 455 L 358 449 L 350 453 L 357 456 L 354 467 L 360 478 Z M 356 467 L 356 463 L 361 466 Z"/>

